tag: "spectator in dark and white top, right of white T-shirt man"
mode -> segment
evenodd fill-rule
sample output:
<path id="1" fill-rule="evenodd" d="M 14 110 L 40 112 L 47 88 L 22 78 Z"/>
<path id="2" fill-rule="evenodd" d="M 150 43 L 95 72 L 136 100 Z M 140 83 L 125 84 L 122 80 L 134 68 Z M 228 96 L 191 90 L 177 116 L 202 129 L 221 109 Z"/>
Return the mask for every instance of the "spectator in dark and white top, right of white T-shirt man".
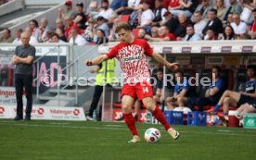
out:
<path id="1" fill-rule="evenodd" d="M 160 27 L 160 24 L 165 21 L 164 14 L 166 13 L 166 8 L 162 5 L 162 0 L 155 1 L 155 10 L 154 10 L 154 18 L 151 21 L 151 26 Z"/>

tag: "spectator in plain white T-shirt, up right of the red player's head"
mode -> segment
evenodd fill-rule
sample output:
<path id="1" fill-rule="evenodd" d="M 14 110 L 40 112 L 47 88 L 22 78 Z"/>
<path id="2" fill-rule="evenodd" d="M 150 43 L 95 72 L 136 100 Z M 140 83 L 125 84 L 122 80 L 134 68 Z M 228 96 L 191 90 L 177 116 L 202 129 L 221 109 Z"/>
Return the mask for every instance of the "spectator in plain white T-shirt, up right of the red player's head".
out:
<path id="1" fill-rule="evenodd" d="M 147 34 L 150 34 L 150 24 L 151 21 L 154 18 L 154 13 L 152 12 L 152 10 L 149 8 L 149 4 L 147 0 L 144 0 L 142 2 L 142 9 L 143 11 L 139 12 L 139 26 L 137 26 L 137 28 L 144 28 L 145 31 L 147 32 Z"/>

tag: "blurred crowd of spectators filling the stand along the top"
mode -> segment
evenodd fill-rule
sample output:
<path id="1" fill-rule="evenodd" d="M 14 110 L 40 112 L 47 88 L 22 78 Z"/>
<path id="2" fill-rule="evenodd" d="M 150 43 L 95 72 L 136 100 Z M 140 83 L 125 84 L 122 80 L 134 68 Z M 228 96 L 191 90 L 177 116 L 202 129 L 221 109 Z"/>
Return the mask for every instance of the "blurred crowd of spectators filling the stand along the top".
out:
<path id="1" fill-rule="evenodd" d="M 89 6 L 68 0 L 58 11 L 55 26 L 31 19 L 15 37 L 5 29 L 0 43 L 20 44 L 22 31 L 31 34 L 30 43 L 115 42 L 121 22 L 134 37 L 153 42 L 256 39 L 256 0 L 91 0 Z"/>

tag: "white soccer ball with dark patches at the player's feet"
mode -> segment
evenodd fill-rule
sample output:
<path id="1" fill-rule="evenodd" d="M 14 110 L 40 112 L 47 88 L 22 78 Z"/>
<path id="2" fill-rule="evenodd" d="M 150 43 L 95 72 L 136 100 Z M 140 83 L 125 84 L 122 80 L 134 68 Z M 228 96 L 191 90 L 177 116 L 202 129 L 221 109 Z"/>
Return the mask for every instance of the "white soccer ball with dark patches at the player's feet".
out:
<path id="1" fill-rule="evenodd" d="M 159 142 L 160 141 L 160 130 L 150 128 L 145 131 L 144 138 L 146 142 Z"/>

